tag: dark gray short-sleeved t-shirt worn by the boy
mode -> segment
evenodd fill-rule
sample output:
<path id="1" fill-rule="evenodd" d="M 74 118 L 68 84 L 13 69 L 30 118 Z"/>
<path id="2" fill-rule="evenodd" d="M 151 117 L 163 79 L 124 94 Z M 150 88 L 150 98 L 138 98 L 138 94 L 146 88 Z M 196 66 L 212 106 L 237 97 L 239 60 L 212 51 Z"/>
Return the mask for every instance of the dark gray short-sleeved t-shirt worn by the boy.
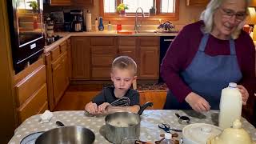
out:
<path id="1" fill-rule="evenodd" d="M 127 90 L 124 97 L 128 97 L 130 99 L 130 106 L 139 105 L 139 94 L 138 91 L 129 89 Z M 93 103 L 96 103 L 98 106 L 101 105 L 104 102 L 114 102 L 116 99 L 114 95 L 114 87 L 105 87 L 101 93 L 97 94 L 96 97 L 92 99 Z"/>

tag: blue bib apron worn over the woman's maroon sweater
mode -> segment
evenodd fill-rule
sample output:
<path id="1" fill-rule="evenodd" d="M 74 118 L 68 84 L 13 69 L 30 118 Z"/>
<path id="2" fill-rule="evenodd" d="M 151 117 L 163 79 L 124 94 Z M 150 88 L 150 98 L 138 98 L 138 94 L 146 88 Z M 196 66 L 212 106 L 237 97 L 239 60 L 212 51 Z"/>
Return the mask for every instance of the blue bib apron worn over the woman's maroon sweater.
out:
<path id="1" fill-rule="evenodd" d="M 210 56 L 204 52 L 208 38 L 209 34 L 204 34 L 197 54 L 180 76 L 194 93 L 210 103 L 210 109 L 218 110 L 222 89 L 228 86 L 229 82 L 239 82 L 242 73 L 238 66 L 234 40 L 230 39 L 230 55 Z M 178 102 L 169 90 L 163 109 L 188 110 L 192 108 L 185 100 Z"/>

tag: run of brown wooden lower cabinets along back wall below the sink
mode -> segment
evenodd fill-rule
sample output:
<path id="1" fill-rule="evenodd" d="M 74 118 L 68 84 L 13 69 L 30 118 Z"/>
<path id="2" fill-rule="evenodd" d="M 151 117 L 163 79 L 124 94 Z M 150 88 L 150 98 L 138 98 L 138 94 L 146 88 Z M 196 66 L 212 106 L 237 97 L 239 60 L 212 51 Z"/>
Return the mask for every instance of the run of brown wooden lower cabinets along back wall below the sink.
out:
<path id="1" fill-rule="evenodd" d="M 138 65 L 138 79 L 159 75 L 159 37 L 72 37 L 71 80 L 110 80 L 114 58 L 126 55 Z M 80 81 L 81 82 L 81 81 Z"/>

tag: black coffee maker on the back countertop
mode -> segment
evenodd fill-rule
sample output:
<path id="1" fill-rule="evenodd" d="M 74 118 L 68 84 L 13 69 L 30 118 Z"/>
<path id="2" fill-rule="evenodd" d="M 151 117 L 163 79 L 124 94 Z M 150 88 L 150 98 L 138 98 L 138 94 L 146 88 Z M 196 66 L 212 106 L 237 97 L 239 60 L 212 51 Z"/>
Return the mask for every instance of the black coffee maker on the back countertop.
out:
<path id="1" fill-rule="evenodd" d="M 70 10 L 71 31 L 83 31 L 83 11 L 82 10 Z"/>

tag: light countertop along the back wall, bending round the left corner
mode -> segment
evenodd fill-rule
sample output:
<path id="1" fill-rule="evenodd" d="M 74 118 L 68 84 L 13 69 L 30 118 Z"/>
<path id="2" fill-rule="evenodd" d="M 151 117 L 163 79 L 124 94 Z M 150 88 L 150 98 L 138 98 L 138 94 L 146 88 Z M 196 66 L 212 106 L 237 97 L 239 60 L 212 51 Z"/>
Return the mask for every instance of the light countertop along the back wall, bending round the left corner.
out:
<path id="1" fill-rule="evenodd" d="M 132 30 L 131 30 L 132 31 Z M 118 37 L 142 37 L 142 36 L 176 36 L 178 33 L 154 33 L 154 30 L 146 30 L 142 33 L 133 33 L 133 34 L 117 34 L 115 30 L 113 31 L 98 31 L 98 32 L 57 32 L 63 38 L 58 39 L 58 41 L 52 43 L 49 46 L 44 47 L 44 53 L 48 53 L 54 47 L 60 45 L 62 42 L 65 42 L 66 39 L 70 37 L 83 37 L 83 36 L 118 36 Z"/>

